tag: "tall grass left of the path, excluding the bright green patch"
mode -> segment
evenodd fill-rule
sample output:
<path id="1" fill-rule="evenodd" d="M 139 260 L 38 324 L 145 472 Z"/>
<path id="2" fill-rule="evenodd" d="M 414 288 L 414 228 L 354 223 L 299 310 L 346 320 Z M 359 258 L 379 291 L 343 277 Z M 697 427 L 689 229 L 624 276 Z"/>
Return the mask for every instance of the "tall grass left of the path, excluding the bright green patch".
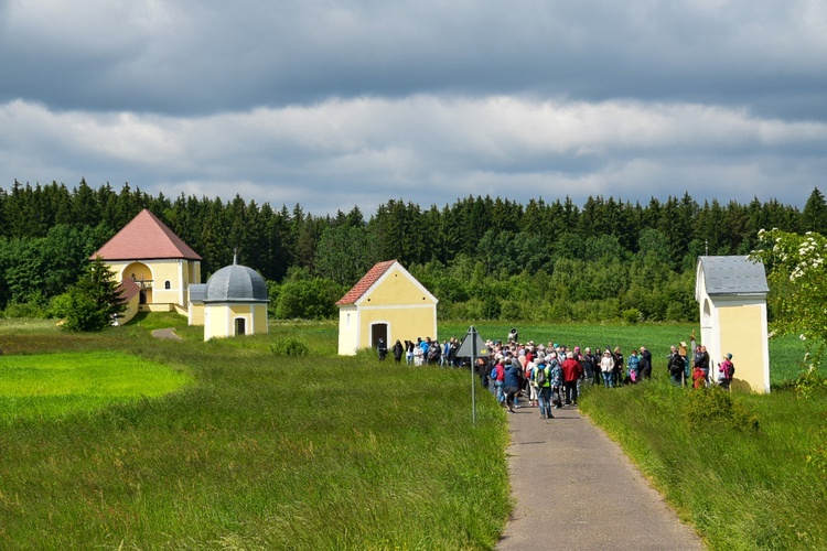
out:
<path id="1" fill-rule="evenodd" d="M 194 382 L 0 426 L 0 547 L 495 544 L 511 507 L 507 431 L 492 400 L 472 426 L 466 372 L 139 331 L 84 343 L 187 366 Z M 75 349 L 73 338 L 62 344 Z"/>

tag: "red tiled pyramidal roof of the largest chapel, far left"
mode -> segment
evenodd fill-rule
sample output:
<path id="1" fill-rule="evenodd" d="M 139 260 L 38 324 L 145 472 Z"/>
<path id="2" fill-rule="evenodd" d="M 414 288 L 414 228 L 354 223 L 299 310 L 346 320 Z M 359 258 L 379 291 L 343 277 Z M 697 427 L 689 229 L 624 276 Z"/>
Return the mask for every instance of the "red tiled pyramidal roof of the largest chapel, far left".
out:
<path id="1" fill-rule="evenodd" d="M 197 252 L 181 240 L 155 215 L 146 208 L 138 213 L 123 229 L 106 241 L 90 258 L 104 260 L 150 260 L 184 258 L 201 260 Z"/>

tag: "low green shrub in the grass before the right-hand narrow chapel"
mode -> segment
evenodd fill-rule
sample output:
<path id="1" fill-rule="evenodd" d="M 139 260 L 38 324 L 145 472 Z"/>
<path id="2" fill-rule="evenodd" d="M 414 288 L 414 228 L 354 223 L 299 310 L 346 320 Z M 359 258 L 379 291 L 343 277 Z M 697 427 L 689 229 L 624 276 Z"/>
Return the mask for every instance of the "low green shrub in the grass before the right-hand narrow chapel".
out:
<path id="1" fill-rule="evenodd" d="M 759 428 L 758 415 L 720 387 L 688 392 L 683 410 L 684 418 L 692 431 L 708 429 L 710 425 L 731 426 L 738 430 Z"/>

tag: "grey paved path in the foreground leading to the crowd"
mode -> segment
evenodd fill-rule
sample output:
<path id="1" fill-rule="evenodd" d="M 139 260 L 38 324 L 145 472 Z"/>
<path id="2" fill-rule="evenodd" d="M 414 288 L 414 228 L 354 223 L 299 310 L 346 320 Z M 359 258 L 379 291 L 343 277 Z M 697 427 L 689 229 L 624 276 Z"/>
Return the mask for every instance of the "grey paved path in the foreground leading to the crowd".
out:
<path id="1" fill-rule="evenodd" d="M 509 415 L 514 512 L 497 549 L 701 550 L 620 445 L 577 408 Z M 548 473 L 546 484 L 535 473 Z M 636 511 L 636 514 L 632 514 Z"/>

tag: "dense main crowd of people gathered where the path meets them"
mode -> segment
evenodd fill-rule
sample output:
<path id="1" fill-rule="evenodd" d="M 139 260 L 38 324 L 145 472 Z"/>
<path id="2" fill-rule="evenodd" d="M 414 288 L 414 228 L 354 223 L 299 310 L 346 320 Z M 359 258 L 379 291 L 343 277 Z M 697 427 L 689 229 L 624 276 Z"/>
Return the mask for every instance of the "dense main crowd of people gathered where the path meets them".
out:
<path id="1" fill-rule="evenodd" d="M 645 346 L 625 358 L 620 346 L 592 350 L 554 342 L 523 344 L 516 328 L 505 344 L 488 341 L 486 346 L 488 356 L 477 360 L 482 383 L 511 413 L 527 397 L 540 418 L 554 419 L 552 409 L 577 407 L 582 385 L 613 388 L 652 377 L 652 353 Z"/>

